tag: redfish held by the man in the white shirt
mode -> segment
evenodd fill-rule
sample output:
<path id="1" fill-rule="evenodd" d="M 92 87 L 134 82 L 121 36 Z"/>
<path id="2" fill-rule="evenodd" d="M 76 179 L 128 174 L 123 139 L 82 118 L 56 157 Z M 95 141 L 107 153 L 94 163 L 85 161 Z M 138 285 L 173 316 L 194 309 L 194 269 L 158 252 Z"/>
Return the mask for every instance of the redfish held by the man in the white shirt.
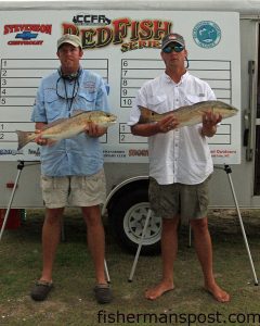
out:
<path id="1" fill-rule="evenodd" d="M 168 114 L 173 114 L 178 120 L 178 127 L 192 126 L 203 122 L 203 115 L 206 112 L 221 115 L 222 118 L 231 117 L 237 114 L 238 110 L 222 101 L 203 101 L 192 105 L 181 106 L 179 109 L 168 111 L 166 113 L 156 113 L 147 108 L 139 105 L 141 116 L 139 123 L 145 124 L 151 122 L 158 122 Z"/>

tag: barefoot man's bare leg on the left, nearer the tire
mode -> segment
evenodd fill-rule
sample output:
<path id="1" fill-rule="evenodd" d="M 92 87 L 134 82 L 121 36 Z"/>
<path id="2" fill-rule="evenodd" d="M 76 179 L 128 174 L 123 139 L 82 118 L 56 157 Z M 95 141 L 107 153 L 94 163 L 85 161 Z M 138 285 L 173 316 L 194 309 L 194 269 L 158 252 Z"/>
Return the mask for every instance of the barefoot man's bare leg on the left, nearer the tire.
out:
<path id="1" fill-rule="evenodd" d="M 178 251 L 178 225 L 179 217 L 162 218 L 161 229 L 161 259 L 162 279 L 154 288 L 145 292 L 145 298 L 155 300 L 167 291 L 174 288 L 173 285 L 173 263 Z"/>

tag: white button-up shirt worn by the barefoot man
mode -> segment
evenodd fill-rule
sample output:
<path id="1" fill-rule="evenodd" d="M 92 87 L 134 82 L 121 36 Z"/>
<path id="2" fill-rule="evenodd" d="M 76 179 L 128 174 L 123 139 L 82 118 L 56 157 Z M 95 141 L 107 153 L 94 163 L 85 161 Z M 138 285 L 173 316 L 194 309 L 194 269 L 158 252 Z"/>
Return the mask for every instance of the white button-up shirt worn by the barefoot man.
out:
<path id="1" fill-rule="evenodd" d="M 216 100 L 216 96 L 204 80 L 186 72 L 176 84 L 162 74 L 146 82 L 139 90 L 128 124 L 132 126 L 139 122 L 138 105 L 165 113 L 207 100 Z M 150 176 L 160 185 L 203 183 L 212 173 L 213 163 L 200 129 L 202 124 L 148 137 Z"/>

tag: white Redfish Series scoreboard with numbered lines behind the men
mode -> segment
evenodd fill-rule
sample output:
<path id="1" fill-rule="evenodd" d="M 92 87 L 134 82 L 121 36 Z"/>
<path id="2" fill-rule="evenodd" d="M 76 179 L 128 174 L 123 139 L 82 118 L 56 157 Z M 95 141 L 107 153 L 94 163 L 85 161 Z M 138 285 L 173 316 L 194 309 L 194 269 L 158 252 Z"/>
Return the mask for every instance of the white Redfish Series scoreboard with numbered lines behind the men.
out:
<path id="1" fill-rule="evenodd" d="M 81 65 L 109 85 L 118 123 L 101 138 L 106 162 L 147 162 L 147 139 L 127 125 L 138 89 L 164 72 L 160 41 L 169 32 L 183 35 L 188 71 L 206 80 L 217 98 L 240 108 L 239 15 L 188 11 L 1 11 L 0 161 L 36 161 L 39 147 L 17 151 L 15 130 L 34 130 L 30 114 L 41 78 L 60 65 L 56 40 L 78 34 Z M 240 163 L 240 113 L 223 121 L 209 139 L 214 164 Z"/>

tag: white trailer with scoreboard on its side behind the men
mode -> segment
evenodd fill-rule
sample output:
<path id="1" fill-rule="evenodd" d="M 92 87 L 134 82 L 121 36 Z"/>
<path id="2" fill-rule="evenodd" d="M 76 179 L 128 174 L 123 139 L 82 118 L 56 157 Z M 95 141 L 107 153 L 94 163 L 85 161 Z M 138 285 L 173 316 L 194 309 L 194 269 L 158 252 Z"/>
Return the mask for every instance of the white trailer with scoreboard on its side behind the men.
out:
<path id="1" fill-rule="evenodd" d="M 62 5 L 61 5 L 62 3 Z M 40 149 L 17 150 L 16 129 L 34 130 L 31 106 L 41 77 L 58 67 L 55 42 L 81 37 L 82 66 L 109 84 L 118 123 L 101 141 L 107 199 L 103 215 L 116 239 L 135 251 L 150 209 L 147 140 L 127 125 L 136 90 L 164 72 L 164 35 L 186 40 L 188 70 L 209 83 L 217 98 L 239 109 L 210 139 L 216 165 L 211 208 L 234 208 L 232 173 L 240 208 L 260 208 L 260 1 L 2 1 L 0 2 L 0 208 L 42 208 Z M 18 176 L 17 185 L 15 183 Z M 159 248 L 160 218 L 152 216 L 143 253 Z"/>

